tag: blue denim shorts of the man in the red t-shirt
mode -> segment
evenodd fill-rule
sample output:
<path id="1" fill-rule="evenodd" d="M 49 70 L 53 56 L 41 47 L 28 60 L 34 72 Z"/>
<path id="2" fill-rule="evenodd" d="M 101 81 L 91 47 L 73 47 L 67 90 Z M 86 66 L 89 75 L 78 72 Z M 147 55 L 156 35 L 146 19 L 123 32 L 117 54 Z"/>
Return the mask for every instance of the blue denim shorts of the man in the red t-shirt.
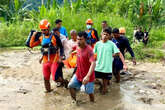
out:
<path id="1" fill-rule="evenodd" d="M 77 80 L 77 77 L 74 74 L 72 79 L 70 80 L 70 82 L 68 84 L 68 88 L 75 88 L 76 90 L 80 90 L 81 85 L 82 85 L 82 82 Z M 88 82 L 85 85 L 85 92 L 87 94 L 93 94 L 94 93 L 94 82 Z"/>

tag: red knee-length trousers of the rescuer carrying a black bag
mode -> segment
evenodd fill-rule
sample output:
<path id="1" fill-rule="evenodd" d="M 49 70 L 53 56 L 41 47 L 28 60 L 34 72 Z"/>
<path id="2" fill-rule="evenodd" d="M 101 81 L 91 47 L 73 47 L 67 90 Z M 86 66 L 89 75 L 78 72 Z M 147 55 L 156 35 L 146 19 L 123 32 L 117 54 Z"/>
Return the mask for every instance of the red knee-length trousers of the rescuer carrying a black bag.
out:
<path id="1" fill-rule="evenodd" d="M 50 75 L 52 74 L 52 79 L 54 81 L 58 80 L 59 77 L 62 77 L 62 73 L 59 70 L 58 63 L 44 63 L 43 64 L 43 75 L 45 80 L 50 80 Z"/>

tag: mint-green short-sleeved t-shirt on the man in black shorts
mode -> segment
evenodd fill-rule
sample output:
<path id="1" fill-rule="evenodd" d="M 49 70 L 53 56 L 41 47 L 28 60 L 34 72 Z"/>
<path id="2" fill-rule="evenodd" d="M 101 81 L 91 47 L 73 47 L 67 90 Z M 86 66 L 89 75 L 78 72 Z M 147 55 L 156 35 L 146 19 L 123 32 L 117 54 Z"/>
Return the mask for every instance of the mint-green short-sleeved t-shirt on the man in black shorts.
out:
<path id="1" fill-rule="evenodd" d="M 97 54 L 95 71 L 112 73 L 112 55 L 119 52 L 119 49 L 112 41 L 97 42 L 94 47 L 94 53 Z"/>

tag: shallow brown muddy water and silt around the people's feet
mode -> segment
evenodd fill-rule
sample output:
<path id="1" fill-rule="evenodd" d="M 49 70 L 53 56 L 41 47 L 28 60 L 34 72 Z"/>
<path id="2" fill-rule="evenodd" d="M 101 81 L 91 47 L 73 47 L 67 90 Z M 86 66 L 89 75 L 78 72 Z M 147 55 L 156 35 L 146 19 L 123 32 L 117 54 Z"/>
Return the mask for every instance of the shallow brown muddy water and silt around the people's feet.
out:
<path id="1" fill-rule="evenodd" d="M 79 105 L 72 103 L 69 91 L 57 88 L 44 93 L 42 65 L 39 52 L 9 51 L 0 53 L 0 110 L 165 110 L 165 67 L 161 63 L 142 63 L 132 66 L 130 75 L 114 81 L 109 93 L 101 95 L 95 86 L 95 103 L 78 92 Z M 70 79 L 73 70 L 64 69 Z"/>

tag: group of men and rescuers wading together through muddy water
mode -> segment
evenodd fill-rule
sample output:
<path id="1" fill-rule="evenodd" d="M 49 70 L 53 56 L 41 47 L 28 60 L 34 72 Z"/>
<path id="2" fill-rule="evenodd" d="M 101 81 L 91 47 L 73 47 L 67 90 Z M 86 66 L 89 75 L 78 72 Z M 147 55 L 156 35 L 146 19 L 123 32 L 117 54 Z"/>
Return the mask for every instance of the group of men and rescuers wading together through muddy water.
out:
<path id="1" fill-rule="evenodd" d="M 69 88 L 75 101 L 76 91 L 83 88 L 90 101 L 94 102 L 94 84 L 99 84 L 100 92 L 106 94 L 113 75 L 116 82 L 120 82 L 120 71 L 128 68 L 125 63 L 125 52 L 130 53 L 133 64 L 136 65 L 134 52 L 125 36 L 125 28 L 112 29 L 107 21 L 102 21 L 99 39 L 97 30 L 93 28 L 93 21 L 88 19 L 85 31 L 71 30 L 69 40 L 66 29 L 62 27 L 62 20 L 57 19 L 55 24 L 56 27 L 51 31 L 48 20 L 40 21 L 41 36 L 35 40 L 37 32 L 34 32 L 30 39 L 31 48 L 41 44 L 40 63 L 43 62 L 46 92 L 52 91 L 50 85 L 52 74 L 52 79 L 60 82 L 59 86 Z M 74 68 L 69 82 L 63 78 L 64 64 Z"/>

